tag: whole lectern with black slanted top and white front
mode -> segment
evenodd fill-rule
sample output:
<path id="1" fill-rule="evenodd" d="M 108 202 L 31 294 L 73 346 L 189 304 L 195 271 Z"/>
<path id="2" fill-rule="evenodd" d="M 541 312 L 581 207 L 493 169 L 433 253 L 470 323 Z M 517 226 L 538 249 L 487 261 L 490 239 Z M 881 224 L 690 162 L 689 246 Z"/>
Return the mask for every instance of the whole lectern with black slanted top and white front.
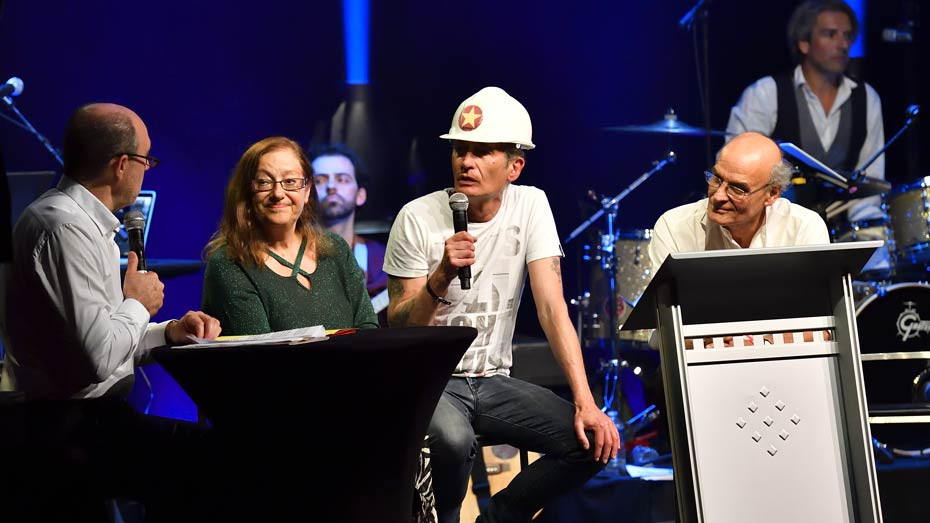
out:
<path id="1" fill-rule="evenodd" d="M 850 276 L 881 245 L 672 254 L 656 272 L 623 330 L 658 329 L 679 521 L 882 521 Z"/>

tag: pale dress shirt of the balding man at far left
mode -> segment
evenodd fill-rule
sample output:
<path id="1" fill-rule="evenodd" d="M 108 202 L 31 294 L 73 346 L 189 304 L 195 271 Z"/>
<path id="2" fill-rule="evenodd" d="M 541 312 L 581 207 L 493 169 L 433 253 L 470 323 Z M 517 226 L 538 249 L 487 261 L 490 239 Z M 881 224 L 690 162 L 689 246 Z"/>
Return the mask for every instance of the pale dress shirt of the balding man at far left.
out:
<path id="1" fill-rule="evenodd" d="M 119 221 L 84 186 L 62 177 L 13 232 L 7 284 L 5 383 L 39 398 L 101 396 L 165 343 L 135 299 L 124 299 Z"/>

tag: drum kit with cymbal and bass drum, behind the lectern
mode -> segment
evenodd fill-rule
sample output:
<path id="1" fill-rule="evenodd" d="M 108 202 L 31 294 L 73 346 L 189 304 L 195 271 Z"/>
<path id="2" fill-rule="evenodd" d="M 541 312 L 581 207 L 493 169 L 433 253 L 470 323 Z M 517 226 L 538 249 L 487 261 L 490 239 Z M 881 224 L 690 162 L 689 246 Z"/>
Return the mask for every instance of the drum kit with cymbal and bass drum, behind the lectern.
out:
<path id="1" fill-rule="evenodd" d="M 916 106 L 908 108 L 905 126 L 866 166 L 911 125 L 917 112 Z M 658 122 L 604 130 L 666 136 L 726 135 L 722 131 L 681 122 L 671 110 Z M 792 144 L 780 147 L 785 157 L 797 166 L 798 176 L 793 180 L 793 187 L 819 187 L 819 191 L 807 194 L 826 197 L 813 205 L 804 201 L 798 203 L 827 218 L 831 241 L 880 239 L 885 242 L 853 286 L 870 408 L 890 405 L 922 413 L 930 420 L 930 176 L 893 187 L 884 180 L 863 176 L 862 170 L 849 176 L 839 175 Z M 674 161 L 674 153 L 663 161 Z M 583 268 L 590 272 L 590 286 L 572 300 L 572 304 L 577 310 L 582 347 L 586 351 L 592 348 L 609 351 L 619 361 L 648 348 L 648 332 L 620 332 L 620 328 L 652 278 L 647 254 L 652 230 L 617 229 L 617 203 L 665 164 L 656 162 L 656 165 L 659 167 L 641 176 L 617 197 L 601 198 L 600 209 L 565 241 L 568 243 L 594 221 L 606 216 L 606 230 L 596 234 L 598 239 L 592 242 L 594 245 L 581 248 Z M 801 193 L 798 191 L 799 195 Z M 878 218 L 855 222 L 845 219 L 850 205 L 870 196 L 881 199 L 876 205 L 881 209 Z M 607 371 L 608 376 L 611 372 Z M 606 401 L 605 394 L 605 404 Z M 905 433 L 908 438 L 913 437 L 913 431 Z M 914 446 L 913 442 L 883 433 L 881 428 L 877 434 L 886 438 L 883 441 L 891 446 Z M 923 441 L 927 437 L 930 436 L 924 435 Z"/>

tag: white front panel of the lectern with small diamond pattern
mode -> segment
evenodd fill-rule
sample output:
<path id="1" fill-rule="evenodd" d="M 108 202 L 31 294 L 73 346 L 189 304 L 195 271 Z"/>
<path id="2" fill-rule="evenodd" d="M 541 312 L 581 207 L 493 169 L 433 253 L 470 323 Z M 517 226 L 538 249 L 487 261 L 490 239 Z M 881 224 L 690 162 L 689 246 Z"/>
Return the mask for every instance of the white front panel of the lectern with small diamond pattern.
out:
<path id="1" fill-rule="evenodd" d="M 710 521 L 856 521 L 835 372 L 829 356 L 689 365 L 696 472 Z"/>

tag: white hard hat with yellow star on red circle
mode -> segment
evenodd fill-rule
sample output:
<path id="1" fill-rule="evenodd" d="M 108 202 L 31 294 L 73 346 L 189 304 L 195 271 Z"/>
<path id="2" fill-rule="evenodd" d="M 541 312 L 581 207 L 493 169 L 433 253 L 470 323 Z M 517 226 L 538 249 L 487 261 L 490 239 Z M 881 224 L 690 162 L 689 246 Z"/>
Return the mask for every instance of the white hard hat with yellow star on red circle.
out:
<path id="1" fill-rule="evenodd" d="M 523 104 L 500 87 L 485 87 L 459 104 L 444 140 L 512 143 L 532 149 L 533 125 Z"/>

